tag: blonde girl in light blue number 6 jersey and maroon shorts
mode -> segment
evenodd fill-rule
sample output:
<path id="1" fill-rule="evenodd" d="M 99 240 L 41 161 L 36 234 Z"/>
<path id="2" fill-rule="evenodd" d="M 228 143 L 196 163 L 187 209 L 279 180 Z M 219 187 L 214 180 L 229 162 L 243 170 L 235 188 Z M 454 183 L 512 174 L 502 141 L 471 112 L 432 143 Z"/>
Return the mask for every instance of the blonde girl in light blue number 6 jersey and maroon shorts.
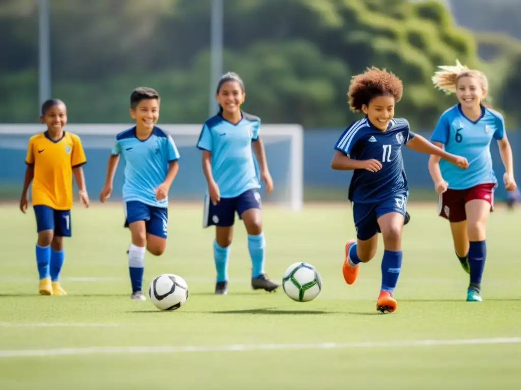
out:
<path id="1" fill-rule="evenodd" d="M 503 183 L 516 189 L 512 148 L 506 137 L 503 116 L 484 105 L 487 77 L 457 61 L 455 67 L 440 67 L 432 77 L 447 93 L 456 93 L 460 103 L 446 110 L 432 133 L 431 141 L 450 153 L 466 157 L 466 171 L 454 169 L 431 156 L 429 172 L 440 196 L 439 214 L 449 220 L 456 256 L 470 274 L 468 302 L 481 302 L 481 278 L 487 257 L 487 217 L 493 211 L 498 180 L 492 170 L 490 142 L 497 140 L 505 166 Z"/>

